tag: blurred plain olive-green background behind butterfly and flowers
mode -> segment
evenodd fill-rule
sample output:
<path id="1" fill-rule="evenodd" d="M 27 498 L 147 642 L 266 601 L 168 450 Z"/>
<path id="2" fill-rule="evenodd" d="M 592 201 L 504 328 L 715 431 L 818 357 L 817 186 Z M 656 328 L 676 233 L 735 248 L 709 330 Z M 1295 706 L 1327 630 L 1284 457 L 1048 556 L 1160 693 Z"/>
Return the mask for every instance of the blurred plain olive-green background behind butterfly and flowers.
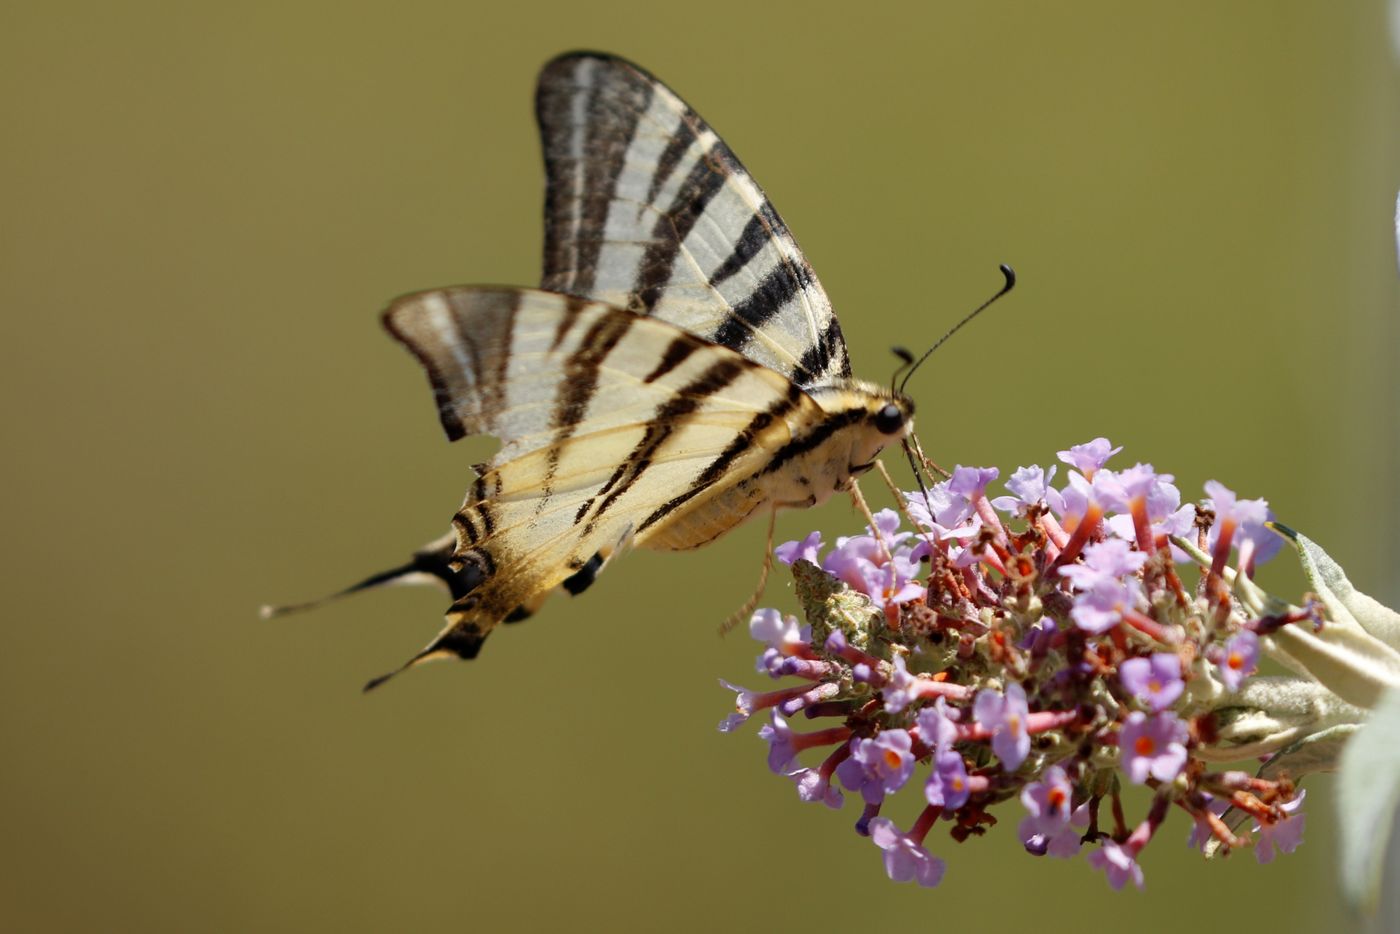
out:
<path id="1" fill-rule="evenodd" d="M 1015 808 L 886 881 L 802 805 L 715 626 L 762 529 L 638 553 L 482 658 L 360 685 L 437 591 L 262 622 L 447 528 L 444 442 L 377 322 L 539 274 L 533 77 L 601 48 L 741 154 L 858 372 L 1019 290 L 913 384 L 939 461 L 1123 458 L 1266 496 L 1397 597 L 1400 87 L 1378 3 L 10 4 L 0 13 L 14 931 L 1322 930 L 1331 786 L 1271 867 L 1173 815 L 1144 893 L 1021 853 Z M 846 503 L 780 534 L 858 522 Z M 1298 585 L 1280 562 L 1266 580 Z M 770 602 L 790 605 L 785 580 Z"/>

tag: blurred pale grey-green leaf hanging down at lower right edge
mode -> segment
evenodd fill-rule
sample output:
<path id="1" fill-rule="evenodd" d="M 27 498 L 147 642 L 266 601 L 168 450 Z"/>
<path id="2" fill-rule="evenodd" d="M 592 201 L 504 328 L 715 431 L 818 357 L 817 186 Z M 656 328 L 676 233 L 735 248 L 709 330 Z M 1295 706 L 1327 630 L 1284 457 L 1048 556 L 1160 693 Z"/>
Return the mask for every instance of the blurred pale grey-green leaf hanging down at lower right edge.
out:
<path id="1" fill-rule="evenodd" d="M 1337 776 L 1341 892 L 1354 907 L 1372 910 L 1380 895 L 1380 870 L 1397 802 L 1400 690 L 1390 690 L 1343 749 Z"/>

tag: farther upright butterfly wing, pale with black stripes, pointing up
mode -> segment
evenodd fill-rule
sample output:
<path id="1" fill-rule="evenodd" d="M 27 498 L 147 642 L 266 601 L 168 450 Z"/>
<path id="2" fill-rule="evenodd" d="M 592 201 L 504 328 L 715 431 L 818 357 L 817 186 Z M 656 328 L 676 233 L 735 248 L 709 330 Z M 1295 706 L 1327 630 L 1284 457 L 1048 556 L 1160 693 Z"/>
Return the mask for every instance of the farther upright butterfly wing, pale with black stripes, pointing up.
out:
<path id="1" fill-rule="evenodd" d="M 728 146 L 661 81 L 550 62 L 543 287 L 669 321 L 808 386 L 850 377 L 832 302 Z"/>

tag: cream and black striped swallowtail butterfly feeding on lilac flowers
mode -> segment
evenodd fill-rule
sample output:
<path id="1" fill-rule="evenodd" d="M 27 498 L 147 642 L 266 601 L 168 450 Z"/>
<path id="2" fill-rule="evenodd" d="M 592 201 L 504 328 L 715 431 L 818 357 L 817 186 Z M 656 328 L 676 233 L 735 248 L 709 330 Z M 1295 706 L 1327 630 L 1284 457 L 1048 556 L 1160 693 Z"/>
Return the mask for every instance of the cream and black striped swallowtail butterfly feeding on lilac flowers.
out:
<path id="1" fill-rule="evenodd" d="M 575 52 L 542 70 L 536 115 L 540 287 L 435 288 L 384 312 L 448 438 L 501 447 L 448 535 L 342 591 L 427 581 L 452 598 L 438 636 L 367 690 L 475 658 L 497 625 L 581 594 L 629 548 L 689 550 L 816 506 L 913 427 L 907 396 L 851 377 L 797 241 L 673 91 Z"/>

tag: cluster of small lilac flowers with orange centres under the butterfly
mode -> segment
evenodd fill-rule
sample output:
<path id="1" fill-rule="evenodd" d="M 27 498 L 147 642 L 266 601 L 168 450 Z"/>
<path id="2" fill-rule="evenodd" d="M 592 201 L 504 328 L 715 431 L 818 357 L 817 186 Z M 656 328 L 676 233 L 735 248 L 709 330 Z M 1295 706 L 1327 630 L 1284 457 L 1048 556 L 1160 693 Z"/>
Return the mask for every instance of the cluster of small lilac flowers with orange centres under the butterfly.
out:
<path id="1" fill-rule="evenodd" d="M 1259 710 L 1240 692 L 1261 643 L 1285 627 L 1319 632 L 1323 612 L 1246 598 L 1260 592 L 1254 566 L 1282 542 L 1263 500 L 1212 482 L 1183 506 L 1170 475 L 1107 469 L 1113 454 L 1103 438 L 1061 451 L 1063 487 L 1054 466 L 1021 468 L 995 499 L 995 469 L 958 468 L 862 535 L 827 549 L 813 532 L 776 549 L 805 622 L 760 609 L 750 634 L 764 644 L 759 672 L 797 682 L 725 683 L 736 704 L 720 728 L 763 720 L 769 767 L 804 801 L 840 808 L 857 795 L 855 830 L 892 879 L 937 885 L 932 829 L 981 835 L 1002 802 L 1019 804 L 1028 853 L 1088 849 L 1114 888 L 1142 885 L 1140 854 L 1173 808 L 1201 847 L 1254 843 L 1268 861 L 1301 842 L 1302 795 L 1287 772 L 1211 763 L 1296 738 L 1261 731 L 1257 717 L 1242 725 L 1240 710 Z M 1183 562 L 1198 567 L 1190 583 Z M 794 730 L 798 714 L 834 725 Z M 1135 825 L 1123 783 L 1151 791 Z M 907 829 L 882 816 L 902 791 L 923 804 Z"/>

